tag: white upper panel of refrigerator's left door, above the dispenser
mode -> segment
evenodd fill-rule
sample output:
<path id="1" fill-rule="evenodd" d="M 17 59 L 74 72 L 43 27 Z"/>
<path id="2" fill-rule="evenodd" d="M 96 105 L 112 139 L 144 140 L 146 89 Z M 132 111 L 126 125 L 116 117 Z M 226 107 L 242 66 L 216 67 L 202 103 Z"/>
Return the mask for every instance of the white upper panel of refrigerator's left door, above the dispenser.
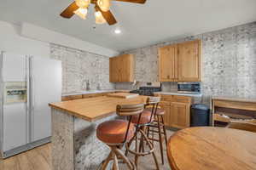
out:
<path id="1" fill-rule="evenodd" d="M 26 56 L 3 53 L 3 82 L 26 82 Z"/>

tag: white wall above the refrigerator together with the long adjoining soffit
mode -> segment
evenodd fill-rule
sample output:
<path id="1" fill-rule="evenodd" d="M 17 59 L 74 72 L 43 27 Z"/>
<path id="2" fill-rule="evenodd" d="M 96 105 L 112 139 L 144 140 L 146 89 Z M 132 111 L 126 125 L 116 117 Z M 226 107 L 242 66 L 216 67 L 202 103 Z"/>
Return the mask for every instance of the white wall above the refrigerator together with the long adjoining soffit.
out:
<path id="1" fill-rule="evenodd" d="M 21 26 L 0 20 L 0 50 L 17 54 L 31 54 L 49 57 L 49 43 L 76 48 L 92 54 L 113 57 L 119 52 L 103 48 L 94 43 L 84 42 L 43 27 L 23 23 Z"/>

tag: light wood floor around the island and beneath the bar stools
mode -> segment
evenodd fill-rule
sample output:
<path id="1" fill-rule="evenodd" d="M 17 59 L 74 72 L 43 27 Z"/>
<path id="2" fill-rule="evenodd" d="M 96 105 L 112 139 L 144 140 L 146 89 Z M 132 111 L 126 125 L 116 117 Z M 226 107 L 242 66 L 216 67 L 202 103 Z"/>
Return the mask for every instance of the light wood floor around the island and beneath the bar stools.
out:
<path id="1" fill-rule="evenodd" d="M 167 137 L 173 134 L 167 130 Z M 160 163 L 160 146 L 154 142 L 155 154 Z M 169 170 L 169 164 L 166 156 L 166 144 L 164 144 L 165 165 L 160 163 L 160 170 Z M 129 158 L 133 161 L 134 156 L 129 154 Z M 125 164 L 119 164 L 120 170 L 126 170 Z M 153 156 L 142 156 L 139 158 L 138 166 L 140 170 L 154 170 Z M 0 158 L 0 170 L 51 170 L 51 144 L 44 144 L 38 148 L 28 150 L 19 155 L 9 157 L 5 160 Z"/>

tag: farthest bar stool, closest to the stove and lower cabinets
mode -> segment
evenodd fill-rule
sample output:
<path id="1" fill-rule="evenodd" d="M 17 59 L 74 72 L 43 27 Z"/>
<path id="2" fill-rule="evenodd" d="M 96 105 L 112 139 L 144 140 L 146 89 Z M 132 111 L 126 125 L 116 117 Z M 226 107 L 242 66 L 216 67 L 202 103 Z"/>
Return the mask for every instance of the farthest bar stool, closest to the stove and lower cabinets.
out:
<path id="1" fill-rule="evenodd" d="M 164 148 L 163 148 L 163 138 L 166 141 L 166 146 L 167 146 L 167 135 L 166 135 L 166 126 L 164 122 L 164 115 L 165 115 L 165 110 L 159 108 L 159 103 L 160 103 L 160 97 L 159 99 L 154 99 L 154 108 L 146 108 L 144 111 L 153 111 L 154 112 L 154 121 L 151 122 L 148 127 L 148 139 L 150 139 L 153 144 L 154 141 L 159 142 L 160 144 L 160 154 L 161 154 L 161 161 L 162 164 L 165 164 L 164 161 Z M 152 138 L 149 138 L 149 132 L 152 133 Z M 158 139 L 154 139 L 154 133 L 158 133 Z M 164 135 L 164 136 L 162 136 Z"/>

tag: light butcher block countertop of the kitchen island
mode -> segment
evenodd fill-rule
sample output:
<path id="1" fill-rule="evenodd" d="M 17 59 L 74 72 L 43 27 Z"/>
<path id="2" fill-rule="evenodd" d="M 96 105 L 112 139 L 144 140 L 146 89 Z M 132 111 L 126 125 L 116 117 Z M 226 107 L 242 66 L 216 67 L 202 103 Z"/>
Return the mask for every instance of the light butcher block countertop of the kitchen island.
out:
<path id="1" fill-rule="evenodd" d="M 50 103 L 49 106 L 61 111 L 66 111 L 85 121 L 95 122 L 106 116 L 115 114 L 117 105 L 146 104 L 147 99 L 147 96 L 137 96 L 131 99 L 101 96 L 89 99 L 76 99 L 59 103 Z"/>

